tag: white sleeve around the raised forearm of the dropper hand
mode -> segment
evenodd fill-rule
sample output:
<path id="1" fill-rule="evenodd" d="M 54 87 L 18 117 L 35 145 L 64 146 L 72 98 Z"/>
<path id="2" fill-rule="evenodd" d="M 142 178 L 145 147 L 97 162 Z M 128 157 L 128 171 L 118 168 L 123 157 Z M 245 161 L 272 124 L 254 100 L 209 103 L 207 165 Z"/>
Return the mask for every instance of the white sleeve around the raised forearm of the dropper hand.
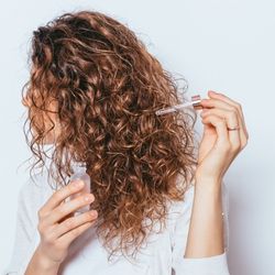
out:
<path id="1" fill-rule="evenodd" d="M 172 274 L 175 275 L 229 275 L 227 250 L 229 244 L 228 196 L 222 182 L 222 210 L 224 226 L 224 252 L 219 255 L 199 258 L 186 258 L 189 222 L 191 216 L 194 186 L 186 193 L 185 200 L 176 207 L 176 219 L 172 231 Z"/>

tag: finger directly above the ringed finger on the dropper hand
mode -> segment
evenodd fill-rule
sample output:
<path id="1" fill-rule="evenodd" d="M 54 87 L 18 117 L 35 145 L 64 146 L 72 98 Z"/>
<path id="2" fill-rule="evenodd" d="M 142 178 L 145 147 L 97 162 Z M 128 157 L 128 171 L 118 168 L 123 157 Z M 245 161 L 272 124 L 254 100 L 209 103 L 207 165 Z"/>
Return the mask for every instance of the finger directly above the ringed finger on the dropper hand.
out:
<path id="1" fill-rule="evenodd" d="M 220 100 L 220 99 L 202 99 L 201 100 L 201 106 L 202 107 L 206 107 L 206 108 L 220 108 L 220 109 L 224 109 L 224 110 L 229 110 L 229 111 L 235 111 L 235 108 L 230 106 L 229 103 Z M 238 112 L 239 114 L 239 112 Z M 243 122 L 242 122 L 242 119 L 240 118 L 240 116 L 238 116 L 238 125 L 240 127 L 240 139 L 241 139 L 241 142 L 244 144 L 245 141 L 248 140 L 246 138 L 246 134 L 244 132 L 244 125 L 243 125 Z"/>

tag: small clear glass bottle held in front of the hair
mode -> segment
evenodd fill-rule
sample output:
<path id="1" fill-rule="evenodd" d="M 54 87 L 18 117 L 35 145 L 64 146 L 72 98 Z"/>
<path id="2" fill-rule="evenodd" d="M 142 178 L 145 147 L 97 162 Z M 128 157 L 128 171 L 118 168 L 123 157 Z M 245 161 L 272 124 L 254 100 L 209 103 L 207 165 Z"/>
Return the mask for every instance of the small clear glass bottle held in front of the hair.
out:
<path id="1" fill-rule="evenodd" d="M 86 172 L 86 163 L 84 162 L 75 162 L 72 165 L 72 168 L 74 170 L 74 174 L 70 176 L 69 180 L 81 179 L 85 183 L 85 187 L 79 193 L 73 194 L 70 196 L 70 199 L 74 199 L 78 196 L 90 193 L 90 176 Z M 77 209 L 75 213 L 79 215 L 89 210 L 90 210 L 90 205 L 87 205 L 85 207 Z"/>

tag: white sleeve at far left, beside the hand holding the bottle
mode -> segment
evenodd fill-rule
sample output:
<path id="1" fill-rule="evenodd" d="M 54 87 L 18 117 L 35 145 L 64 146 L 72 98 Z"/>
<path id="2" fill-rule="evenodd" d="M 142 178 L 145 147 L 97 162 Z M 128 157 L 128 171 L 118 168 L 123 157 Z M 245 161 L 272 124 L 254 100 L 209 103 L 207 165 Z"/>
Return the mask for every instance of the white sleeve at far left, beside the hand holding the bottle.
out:
<path id="1" fill-rule="evenodd" d="M 16 227 L 13 251 L 9 266 L 3 275 L 23 275 L 35 251 L 37 224 L 38 187 L 32 180 L 25 182 L 19 191 L 16 209 Z"/>

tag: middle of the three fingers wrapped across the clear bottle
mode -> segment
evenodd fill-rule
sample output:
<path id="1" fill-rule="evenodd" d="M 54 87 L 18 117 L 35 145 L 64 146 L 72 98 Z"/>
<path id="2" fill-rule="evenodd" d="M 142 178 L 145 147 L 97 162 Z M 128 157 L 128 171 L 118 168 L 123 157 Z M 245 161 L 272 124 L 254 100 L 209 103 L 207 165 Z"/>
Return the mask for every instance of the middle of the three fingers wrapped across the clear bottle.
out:
<path id="1" fill-rule="evenodd" d="M 64 220 L 64 217 L 76 211 L 77 209 L 91 204 L 95 200 L 95 196 L 92 194 L 81 195 L 75 199 L 68 200 L 65 204 L 56 207 L 51 215 L 45 217 L 44 224 L 54 224 L 59 222 L 61 219 Z"/>

